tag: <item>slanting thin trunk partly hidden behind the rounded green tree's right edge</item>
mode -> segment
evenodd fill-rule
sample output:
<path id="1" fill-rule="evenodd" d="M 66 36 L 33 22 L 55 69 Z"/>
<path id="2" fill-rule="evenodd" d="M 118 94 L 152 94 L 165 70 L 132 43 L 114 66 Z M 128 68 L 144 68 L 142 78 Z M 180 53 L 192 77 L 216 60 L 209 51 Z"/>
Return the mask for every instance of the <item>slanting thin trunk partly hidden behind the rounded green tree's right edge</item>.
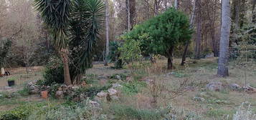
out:
<path id="1" fill-rule="evenodd" d="M 193 28 L 193 24 L 194 24 L 194 15 L 195 15 L 195 11 L 196 11 L 196 1 L 197 1 L 197 0 L 194 0 L 194 3 L 193 3 L 193 10 L 192 10 L 192 12 L 191 12 L 190 29 Z M 189 41 L 186 42 L 185 49 L 184 49 L 184 52 L 183 52 L 183 54 L 182 54 L 181 66 L 184 66 L 184 64 L 185 64 L 185 61 L 186 61 L 186 54 L 187 54 L 187 52 L 188 52 L 188 49 L 189 49 Z"/>

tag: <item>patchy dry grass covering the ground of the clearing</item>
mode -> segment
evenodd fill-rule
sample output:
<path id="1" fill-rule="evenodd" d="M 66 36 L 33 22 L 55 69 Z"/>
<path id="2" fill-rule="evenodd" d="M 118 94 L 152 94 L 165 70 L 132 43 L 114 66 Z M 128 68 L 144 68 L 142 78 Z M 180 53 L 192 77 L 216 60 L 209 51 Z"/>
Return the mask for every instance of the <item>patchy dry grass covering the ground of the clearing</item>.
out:
<path id="1" fill-rule="evenodd" d="M 162 113 L 161 109 L 166 109 L 166 106 L 171 104 L 177 110 L 176 114 L 174 114 L 174 112 L 171 112 L 171 114 L 182 116 L 183 119 L 186 118 L 185 116 L 202 116 L 202 119 L 204 120 L 226 119 L 227 115 L 229 115 L 229 119 L 232 119 L 233 114 L 244 101 L 250 102 L 252 112 L 256 113 L 255 94 L 247 94 L 243 91 L 231 91 L 229 89 L 224 89 L 220 92 L 207 91 L 205 89 L 206 84 L 208 84 L 210 81 L 222 81 L 222 83 L 225 84 L 236 83 L 242 86 L 245 83 L 244 69 L 234 67 L 234 64 L 231 62 L 229 64 L 229 66 L 232 66 L 229 69 L 230 76 L 226 78 L 219 78 L 216 76 L 217 59 L 202 59 L 196 61 L 195 63 L 189 60 L 190 64 L 188 67 L 179 66 L 180 59 L 175 59 L 174 62 L 176 69 L 161 73 L 156 77 L 156 79 L 161 79 L 163 84 L 163 92 L 162 95 L 159 96 L 156 106 L 153 106 L 151 103 L 152 96 L 149 89 L 147 89 L 147 84 L 144 81 L 141 81 L 141 79 L 148 77 L 146 70 L 141 68 L 137 69 L 137 71 L 131 75 L 131 81 L 126 81 L 126 79 L 119 81 L 115 78 L 108 79 L 108 81 L 106 81 L 107 85 L 118 82 L 118 84 L 121 84 L 123 87 L 117 89 L 120 91 L 119 101 L 103 101 L 102 104 L 104 105 L 102 109 L 104 112 L 102 114 L 107 114 L 111 119 L 120 120 L 159 119 L 165 117 L 166 115 L 166 113 Z M 158 60 L 157 64 L 162 66 L 161 68 L 165 68 L 166 59 Z M 255 64 L 252 64 L 252 66 L 253 65 Z M 85 80 L 87 84 L 92 84 L 92 88 L 98 88 L 100 82 L 98 79 L 99 76 L 116 76 L 117 74 L 128 75 L 126 72 L 129 71 L 128 69 L 115 70 L 109 69 L 108 67 L 97 64 L 93 67 L 93 69 L 89 69 L 87 71 L 87 79 Z M 170 72 L 174 72 L 174 74 L 167 74 Z M 249 83 L 251 86 L 256 86 L 255 73 L 255 70 L 247 70 L 247 83 Z M 181 93 L 181 95 L 172 98 L 173 94 L 178 92 L 182 81 L 185 79 L 188 79 L 186 86 L 189 86 L 192 89 L 184 91 L 184 93 Z M 99 88 L 101 87 L 102 86 Z M 183 89 L 186 89 L 186 87 Z M 92 91 L 101 90 L 105 89 L 80 89 L 77 92 L 88 91 L 88 93 L 95 95 L 95 92 Z M 29 96 L 27 96 L 26 89 L 22 89 L 18 91 L 18 93 L 22 96 L 17 96 L 11 99 L 8 97 L 1 98 L 0 107 L 14 107 L 34 102 L 24 101 L 22 99 L 29 98 Z M 6 94 L 8 95 L 8 93 Z M 193 99 L 195 96 L 202 97 L 205 99 L 205 101 L 195 101 Z M 49 102 L 54 103 L 58 101 L 50 100 Z M 74 104 L 77 103 L 66 102 L 65 106 L 74 106 Z M 178 109 L 184 109 L 186 114 L 181 114 L 182 112 L 178 111 Z"/>

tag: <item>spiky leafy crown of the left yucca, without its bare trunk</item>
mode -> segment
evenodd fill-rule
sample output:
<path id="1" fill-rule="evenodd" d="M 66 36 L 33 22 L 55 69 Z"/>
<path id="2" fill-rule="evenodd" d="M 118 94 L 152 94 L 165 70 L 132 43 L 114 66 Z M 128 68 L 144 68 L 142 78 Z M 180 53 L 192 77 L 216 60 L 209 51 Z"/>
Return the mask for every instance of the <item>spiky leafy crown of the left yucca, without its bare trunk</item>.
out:
<path id="1" fill-rule="evenodd" d="M 72 6 L 71 0 L 34 0 L 34 6 L 42 16 L 44 24 L 52 29 L 54 45 L 58 49 L 67 47 L 67 32 Z"/>

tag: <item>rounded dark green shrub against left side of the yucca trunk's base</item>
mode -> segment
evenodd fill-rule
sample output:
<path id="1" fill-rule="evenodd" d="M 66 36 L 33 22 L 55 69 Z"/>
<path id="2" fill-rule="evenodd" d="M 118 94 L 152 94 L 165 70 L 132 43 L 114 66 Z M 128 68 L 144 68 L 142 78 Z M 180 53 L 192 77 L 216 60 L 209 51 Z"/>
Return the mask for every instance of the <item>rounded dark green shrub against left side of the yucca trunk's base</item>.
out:
<path id="1" fill-rule="evenodd" d="M 64 71 L 62 61 L 57 57 L 52 57 L 47 64 L 44 71 L 44 85 L 51 85 L 53 83 L 64 83 Z"/>

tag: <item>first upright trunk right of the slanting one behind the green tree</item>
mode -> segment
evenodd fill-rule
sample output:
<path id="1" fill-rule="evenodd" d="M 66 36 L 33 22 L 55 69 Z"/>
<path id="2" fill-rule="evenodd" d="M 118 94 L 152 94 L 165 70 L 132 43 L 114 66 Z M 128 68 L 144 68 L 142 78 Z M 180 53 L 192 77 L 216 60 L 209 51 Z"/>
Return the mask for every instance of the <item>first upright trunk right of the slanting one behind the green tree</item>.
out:
<path id="1" fill-rule="evenodd" d="M 199 5 L 201 3 L 201 0 L 197 0 L 198 8 L 201 9 L 201 6 Z M 195 47 L 195 59 L 200 59 L 201 57 L 201 42 L 202 42 L 202 16 L 200 14 L 200 10 L 197 9 L 197 23 L 196 23 L 196 47 Z"/>

